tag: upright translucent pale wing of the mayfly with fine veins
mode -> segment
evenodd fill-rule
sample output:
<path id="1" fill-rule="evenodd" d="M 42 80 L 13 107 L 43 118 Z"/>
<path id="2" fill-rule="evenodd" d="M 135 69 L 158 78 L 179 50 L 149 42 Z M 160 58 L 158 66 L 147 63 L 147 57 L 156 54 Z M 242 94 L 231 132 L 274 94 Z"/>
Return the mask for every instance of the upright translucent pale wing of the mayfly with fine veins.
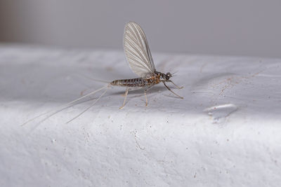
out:
<path id="1" fill-rule="evenodd" d="M 124 51 L 129 66 L 138 76 L 145 77 L 155 73 L 148 40 L 143 29 L 136 22 L 129 22 L 124 31 Z"/>

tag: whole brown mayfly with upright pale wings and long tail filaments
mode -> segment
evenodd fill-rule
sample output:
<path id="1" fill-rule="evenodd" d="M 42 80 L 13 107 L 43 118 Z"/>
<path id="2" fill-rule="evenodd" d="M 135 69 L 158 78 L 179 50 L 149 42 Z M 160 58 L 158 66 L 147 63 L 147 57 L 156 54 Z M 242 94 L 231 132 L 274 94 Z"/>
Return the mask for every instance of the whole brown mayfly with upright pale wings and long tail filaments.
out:
<path id="1" fill-rule="evenodd" d="M 104 92 L 96 99 L 88 108 L 86 108 L 84 111 L 79 113 L 78 116 L 72 118 L 74 120 L 75 118 L 78 118 L 81 116 L 82 113 L 86 112 L 88 109 L 91 108 L 98 100 L 105 95 L 107 92 L 107 89 L 110 88 L 110 86 L 122 86 L 126 88 L 125 91 L 125 99 L 122 104 L 122 106 L 119 107 L 119 109 L 122 109 L 125 106 L 126 103 L 126 97 L 128 95 L 129 90 L 143 88 L 144 89 L 144 95 L 145 95 L 145 106 L 148 106 L 148 98 L 146 96 L 146 92 L 152 88 L 153 85 L 157 85 L 159 83 L 163 83 L 164 86 L 172 92 L 176 97 L 183 99 L 183 97 L 177 95 L 171 88 L 166 85 L 166 83 L 173 83 L 176 88 L 181 89 L 182 87 L 179 87 L 176 85 L 173 81 L 170 80 L 170 78 L 173 76 L 171 73 L 163 74 L 159 71 L 156 71 L 154 62 L 152 60 L 152 55 L 150 53 L 150 48 L 148 46 L 148 40 L 145 37 L 145 33 L 143 32 L 143 29 L 136 23 L 136 22 L 128 22 L 125 26 L 124 30 L 124 52 L 126 55 L 126 59 L 129 62 L 129 67 L 131 67 L 131 70 L 138 75 L 138 78 L 129 78 L 129 79 L 121 79 L 121 80 L 115 80 L 111 83 L 108 83 L 105 87 L 100 88 L 98 90 L 95 90 L 93 92 L 90 92 L 87 95 L 84 95 L 83 97 L 80 97 L 78 99 L 75 99 L 72 102 L 69 102 L 67 104 L 63 104 L 63 106 L 60 106 L 54 110 L 47 111 L 46 113 L 42 113 L 39 116 L 36 116 L 30 120 L 28 120 L 26 123 L 29 123 L 31 120 L 34 120 L 35 118 L 39 118 L 40 116 L 44 116 L 48 113 L 51 113 L 50 116 L 53 116 L 55 113 L 58 113 L 59 111 L 62 111 L 63 109 L 72 106 L 75 102 L 78 102 L 81 99 L 84 99 L 85 97 L 89 97 L 90 95 L 95 94 L 96 92 L 99 92 L 101 90 L 104 90 Z M 53 113 L 52 113 L 53 112 Z M 48 118 L 47 117 L 47 118 Z M 72 121 L 70 120 L 70 121 Z M 67 123 L 69 123 L 68 121 Z M 26 123 L 22 124 L 25 125 Z"/>

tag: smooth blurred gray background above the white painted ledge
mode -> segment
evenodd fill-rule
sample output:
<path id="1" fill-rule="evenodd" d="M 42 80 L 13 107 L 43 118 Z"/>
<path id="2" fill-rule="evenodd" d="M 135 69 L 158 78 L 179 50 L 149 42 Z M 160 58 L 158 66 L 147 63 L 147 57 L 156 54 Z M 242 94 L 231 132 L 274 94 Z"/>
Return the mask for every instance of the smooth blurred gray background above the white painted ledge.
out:
<path id="1" fill-rule="evenodd" d="M 281 57 L 281 1 L 0 0 L 0 41 L 122 50 L 138 22 L 153 52 Z"/>

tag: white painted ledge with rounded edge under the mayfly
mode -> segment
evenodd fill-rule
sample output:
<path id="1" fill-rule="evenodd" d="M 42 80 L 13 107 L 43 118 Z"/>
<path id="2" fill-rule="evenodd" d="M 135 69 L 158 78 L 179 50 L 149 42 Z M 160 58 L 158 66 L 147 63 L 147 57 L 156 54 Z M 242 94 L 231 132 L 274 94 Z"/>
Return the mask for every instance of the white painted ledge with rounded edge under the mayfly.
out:
<path id="1" fill-rule="evenodd" d="M 280 60 L 152 54 L 185 99 L 110 89 L 91 102 L 20 124 L 133 78 L 120 51 L 0 47 L 0 186 L 279 186 Z M 98 95 L 97 95 L 98 96 Z"/>

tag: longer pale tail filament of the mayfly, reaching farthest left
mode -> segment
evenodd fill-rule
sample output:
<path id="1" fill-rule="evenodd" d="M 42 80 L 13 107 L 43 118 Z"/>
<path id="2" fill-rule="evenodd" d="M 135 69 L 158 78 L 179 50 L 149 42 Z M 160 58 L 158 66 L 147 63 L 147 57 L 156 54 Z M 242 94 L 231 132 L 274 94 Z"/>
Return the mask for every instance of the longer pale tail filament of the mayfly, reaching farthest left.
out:
<path id="1" fill-rule="evenodd" d="M 35 116 L 34 118 L 31 118 L 30 120 L 27 120 L 27 121 L 26 121 L 25 123 L 23 123 L 21 126 L 23 126 L 23 125 L 25 125 L 25 124 L 27 124 L 27 123 L 30 123 L 32 120 L 35 120 L 35 119 L 37 119 L 37 118 L 39 118 L 39 117 L 41 117 L 41 116 L 44 116 L 44 115 L 46 115 L 46 114 L 48 114 L 48 113 L 51 113 L 51 112 L 54 112 L 54 113 L 51 114 L 51 116 L 53 116 L 55 113 L 58 113 L 58 112 L 62 111 L 63 109 L 68 108 L 71 104 L 74 104 L 75 102 L 78 102 L 79 100 L 84 99 L 85 97 L 89 97 L 90 95 L 93 95 L 93 94 L 95 94 L 96 92 L 99 92 L 100 90 L 103 90 L 103 89 L 107 88 L 108 86 L 109 86 L 109 84 L 106 85 L 106 86 L 104 86 L 104 87 L 102 87 L 102 88 L 100 88 L 100 89 L 98 89 L 98 90 L 95 90 L 95 91 L 93 91 L 93 92 L 90 92 L 90 93 L 87 94 L 87 95 L 84 95 L 84 96 L 82 96 L 82 97 L 79 97 L 78 99 L 75 99 L 75 100 L 73 100 L 72 102 L 68 102 L 68 103 L 66 103 L 66 104 L 60 105 L 60 106 L 56 107 L 55 109 L 52 109 L 51 111 L 46 111 L 46 112 L 44 112 L 44 113 L 41 113 L 41 114 L 39 114 L 38 116 Z M 51 116 L 48 116 L 47 118 L 49 118 L 49 117 L 51 117 Z M 46 118 L 46 119 L 47 119 L 47 118 Z M 46 119 L 44 119 L 44 120 L 46 120 Z"/>

